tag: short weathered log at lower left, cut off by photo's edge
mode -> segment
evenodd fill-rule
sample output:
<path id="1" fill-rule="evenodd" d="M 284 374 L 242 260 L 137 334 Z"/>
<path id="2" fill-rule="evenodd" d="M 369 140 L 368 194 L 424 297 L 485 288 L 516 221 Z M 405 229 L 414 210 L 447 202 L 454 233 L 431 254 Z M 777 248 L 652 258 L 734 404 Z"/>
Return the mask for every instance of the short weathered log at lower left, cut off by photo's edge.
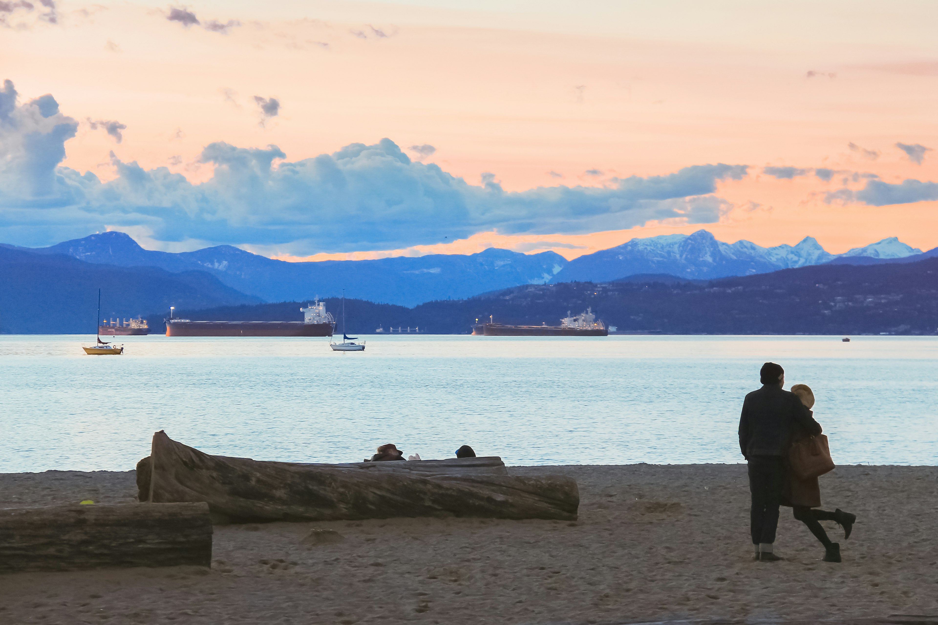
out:
<path id="1" fill-rule="evenodd" d="M 204 503 L 131 503 L 0 510 L 0 573 L 102 567 L 209 566 Z"/>

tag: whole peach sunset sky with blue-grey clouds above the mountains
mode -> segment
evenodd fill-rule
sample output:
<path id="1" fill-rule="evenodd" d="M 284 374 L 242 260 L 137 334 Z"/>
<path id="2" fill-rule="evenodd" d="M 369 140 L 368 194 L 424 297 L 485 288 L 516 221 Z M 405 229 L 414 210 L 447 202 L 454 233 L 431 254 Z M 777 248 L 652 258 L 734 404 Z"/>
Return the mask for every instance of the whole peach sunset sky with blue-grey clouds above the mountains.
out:
<path id="1" fill-rule="evenodd" d="M 938 246 L 938 3 L 0 2 L 0 243 Z"/>

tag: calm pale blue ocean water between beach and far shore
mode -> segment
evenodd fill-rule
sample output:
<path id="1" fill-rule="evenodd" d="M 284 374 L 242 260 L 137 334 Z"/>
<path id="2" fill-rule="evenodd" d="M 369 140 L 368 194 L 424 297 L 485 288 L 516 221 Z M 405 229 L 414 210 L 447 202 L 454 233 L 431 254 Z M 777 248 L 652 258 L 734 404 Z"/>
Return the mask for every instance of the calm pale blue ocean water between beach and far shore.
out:
<path id="1" fill-rule="evenodd" d="M 209 454 L 356 462 L 470 444 L 509 465 L 735 463 L 759 367 L 803 382 L 840 464 L 938 465 L 938 337 L 0 336 L 0 472 L 133 469 L 153 432 Z"/>

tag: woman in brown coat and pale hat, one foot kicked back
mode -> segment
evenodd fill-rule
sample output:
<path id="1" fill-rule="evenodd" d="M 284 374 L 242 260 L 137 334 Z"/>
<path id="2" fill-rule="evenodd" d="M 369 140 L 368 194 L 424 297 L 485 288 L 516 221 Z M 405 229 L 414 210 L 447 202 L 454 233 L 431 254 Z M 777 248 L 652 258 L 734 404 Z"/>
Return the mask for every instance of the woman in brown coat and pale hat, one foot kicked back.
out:
<path id="1" fill-rule="evenodd" d="M 792 387 L 792 393 L 798 395 L 801 403 L 808 408 L 814 406 L 814 394 L 807 384 L 795 384 Z M 793 445 L 810 436 L 801 425 L 795 424 L 794 427 Z M 854 529 L 855 514 L 845 513 L 840 508 L 832 513 L 815 510 L 821 507 L 821 486 L 818 484 L 818 479 L 815 477 L 802 480 L 794 474 L 791 468 L 788 469 L 788 482 L 785 485 L 782 505 L 791 506 L 794 510 L 794 518 L 808 526 L 815 538 L 825 546 L 825 562 L 840 562 L 840 543 L 831 542 L 820 521 L 837 522 L 843 528 L 843 538 L 848 539 Z"/>

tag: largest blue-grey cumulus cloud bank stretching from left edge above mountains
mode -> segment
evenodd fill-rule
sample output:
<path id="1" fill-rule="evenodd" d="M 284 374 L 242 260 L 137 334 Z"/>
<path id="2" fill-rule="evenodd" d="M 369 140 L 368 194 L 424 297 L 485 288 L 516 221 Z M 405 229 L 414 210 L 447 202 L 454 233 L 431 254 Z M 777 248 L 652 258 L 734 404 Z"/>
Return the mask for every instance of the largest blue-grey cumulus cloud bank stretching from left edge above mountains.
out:
<path id="1" fill-rule="evenodd" d="M 714 195 L 720 181 L 747 174 L 745 165 L 694 165 L 601 187 L 509 192 L 491 173 L 471 185 L 384 139 L 298 161 L 286 160 L 276 145 L 215 142 L 198 158 L 214 171 L 200 184 L 167 167 L 113 157 L 114 177 L 101 182 L 60 166 L 75 120 L 61 112 L 43 117 L 33 102 L 18 105 L 12 84 L 2 93 L 0 241 L 15 237 L 21 245 L 138 227 L 164 242 L 278 245 L 305 256 L 428 245 L 479 231 L 578 234 L 650 221 L 712 223 L 730 206 Z"/>

